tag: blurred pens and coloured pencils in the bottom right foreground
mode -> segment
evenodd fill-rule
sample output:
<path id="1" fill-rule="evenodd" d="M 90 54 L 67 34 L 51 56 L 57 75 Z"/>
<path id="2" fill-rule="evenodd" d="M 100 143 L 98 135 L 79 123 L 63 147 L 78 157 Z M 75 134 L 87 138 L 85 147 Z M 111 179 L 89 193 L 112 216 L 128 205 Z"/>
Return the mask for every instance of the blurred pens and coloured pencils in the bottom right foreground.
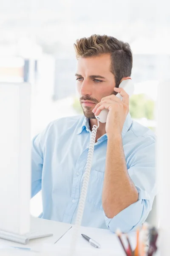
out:
<path id="1" fill-rule="evenodd" d="M 157 251 L 158 230 L 155 227 L 149 227 L 147 223 L 142 225 L 142 229 L 136 230 L 136 249 L 133 250 L 128 234 L 125 234 L 128 247 L 125 246 L 122 239 L 121 230 L 116 230 L 116 235 L 126 256 L 153 256 Z"/>

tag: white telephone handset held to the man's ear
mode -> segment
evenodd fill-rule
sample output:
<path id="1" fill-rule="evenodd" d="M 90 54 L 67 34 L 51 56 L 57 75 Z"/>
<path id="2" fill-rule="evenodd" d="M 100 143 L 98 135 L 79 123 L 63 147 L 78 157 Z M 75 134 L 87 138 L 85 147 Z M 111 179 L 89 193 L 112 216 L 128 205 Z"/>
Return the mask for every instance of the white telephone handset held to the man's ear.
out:
<path id="1" fill-rule="evenodd" d="M 127 94 L 130 96 L 133 95 L 133 91 L 134 91 L 134 84 L 133 81 L 131 79 L 127 79 L 127 80 L 123 80 L 120 84 L 119 84 L 119 88 L 123 88 Z M 120 95 L 120 93 L 116 94 L 116 97 L 118 97 L 119 99 L 122 99 L 122 96 Z M 99 119 L 100 122 L 105 123 L 107 120 L 107 116 L 108 116 L 108 109 L 103 109 L 98 116 L 96 116 L 96 119 Z"/>

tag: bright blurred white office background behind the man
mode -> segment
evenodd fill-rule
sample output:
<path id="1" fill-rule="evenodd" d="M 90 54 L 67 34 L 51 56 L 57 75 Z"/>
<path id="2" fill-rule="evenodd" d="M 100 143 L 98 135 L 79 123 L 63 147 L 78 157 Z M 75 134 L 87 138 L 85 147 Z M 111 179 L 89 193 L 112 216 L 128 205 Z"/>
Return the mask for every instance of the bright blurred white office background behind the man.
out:
<path id="1" fill-rule="evenodd" d="M 135 83 L 130 113 L 155 131 L 158 84 L 170 78 L 166 2 L 0 0 L 0 81 L 31 83 L 31 137 L 51 120 L 81 113 L 73 44 L 91 34 L 112 35 L 130 44 Z M 38 193 L 31 199 L 31 214 L 41 211 Z"/>

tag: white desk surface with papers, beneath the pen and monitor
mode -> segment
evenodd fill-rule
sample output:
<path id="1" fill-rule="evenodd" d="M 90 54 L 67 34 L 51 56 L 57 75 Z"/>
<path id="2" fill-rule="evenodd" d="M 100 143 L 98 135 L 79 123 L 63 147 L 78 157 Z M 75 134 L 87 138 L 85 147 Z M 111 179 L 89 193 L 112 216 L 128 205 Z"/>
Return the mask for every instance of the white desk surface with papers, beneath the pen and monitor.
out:
<path id="1" fill-rule="evenodd" d="M 31 218 L 31 225 L 34 229 L 45 230 L 54 233 L 53 237 L 34 239 L 27 245 L 18 244 L 0 239 L 0 245 L 30 247 L 32 251 L 17 250 L 12 248 L 0 249 L 0 256 L 70 256 L 70 242 L 73 233 L 71 224 L 60 223 L 57 221 L 48 221 L 39 218 Z M 100 249 L 92 247 L 81 233 L 91 237 L 101 244 Z M 136 234 L 130 234 L 130 240 L 133 248 L 135 247 Z M 37 252 L 34 252 L 36 250 Z M 123 256 L 124 252 L 119 244 L 117 237 L 109 230 L 102 230 L 89 227 L 81 227 L 79 230 L 79 239 L 77 241 L 77 251 L 74 256 Z"/>

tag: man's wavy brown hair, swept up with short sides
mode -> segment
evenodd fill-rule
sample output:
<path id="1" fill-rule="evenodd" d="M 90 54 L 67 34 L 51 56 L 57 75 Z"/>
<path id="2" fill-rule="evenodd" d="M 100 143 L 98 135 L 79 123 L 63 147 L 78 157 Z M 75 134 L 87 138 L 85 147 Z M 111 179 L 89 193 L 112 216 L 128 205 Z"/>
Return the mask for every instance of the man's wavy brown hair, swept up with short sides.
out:
<path id="1" fill-rule="evenodd" d="M 128 43 L 108 35 L 91 35 L 89 38 L 77 39 L 74 49 L 77 59 L 111 54 L 111 72 L 116 87 L 119 87 L 123 77 L 131 75 L 133 57 Z"/>

